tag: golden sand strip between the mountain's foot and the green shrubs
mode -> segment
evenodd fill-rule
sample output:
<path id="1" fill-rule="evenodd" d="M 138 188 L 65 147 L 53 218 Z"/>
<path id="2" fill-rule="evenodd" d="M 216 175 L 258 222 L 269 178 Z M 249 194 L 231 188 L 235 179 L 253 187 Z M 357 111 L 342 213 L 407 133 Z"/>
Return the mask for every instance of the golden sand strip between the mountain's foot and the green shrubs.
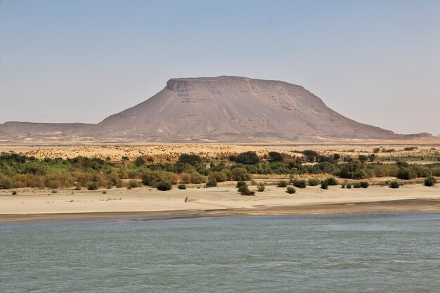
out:
<path id="1" fill-rule="evenodd" d="M 361 145 L 356 141 L 353 144 L 322 144 L 322 145 L 307 145 L 286 143 L 280 145 L 232 145 L 232 144 L 203 144 L 203 143 L 168 143 L 162 145 L 108 145 L 108 146 L 25 146 L 25 145 L 0 145 L 0 152 L 14 151 L 23 153 L 27 156 L 38 157 L 44 159 L 45 157 L 62 157 L 63 159 L 72 157 L 98 157 L 101 159 L 110 159 L 115 162 L 121 160 L 122 156 L 136 159 L 136 157 L 153 157 L 156 162 L 165 162 L 167 158 L 175 161 L 179 155 L 183 153 L 191 153 L 200 155 L 202 157 L 228 157 L 229 155 L 245 152 L 248 150 L 257 152 L 259 156 L 266 155 L 271 151 L 284 152 L 286 154 L 301 157 L 299 153 L 301 150 L 313 149 L 318 151 L 321 155 L 332 155 L 339 153 L 339 155 L 350 155 L 357 157 L 358 155 L 370 155 L 373 148 L 383 146 L 384 148 L 394 148 L 395 152 L 377 152 L 375 154 L 378 158 L 393 159 L 396 157 L 425 157 L 429 158 L 421 163 L 432 162 L 440 157 L 440 139 L 432 139 L 425 144 L 422 141 L 394 141 L 394 145 L 382 144 L 382 141 L 364 141 Z M 387 141 L 389 143 L 389 141 Z M 401 143 L 401 144 L 397 144 Z M 420 144 L 418 144 L 420 143 Z M 418 150 L 403 150 L 405 146 L 417 145 Z M 351 151 L 354 150 L 354 151 Z"/>

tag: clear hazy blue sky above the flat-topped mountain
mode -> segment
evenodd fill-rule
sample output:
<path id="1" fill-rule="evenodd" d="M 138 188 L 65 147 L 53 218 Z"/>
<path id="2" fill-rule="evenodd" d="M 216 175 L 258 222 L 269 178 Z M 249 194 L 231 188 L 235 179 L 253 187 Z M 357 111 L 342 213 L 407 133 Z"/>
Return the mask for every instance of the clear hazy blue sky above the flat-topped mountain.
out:
<path id="1" fill-rule="evenodd" d="M 0 123 L 96 123 L 172 77 L 218 75 L 440 134 L 440 0 L 0 0 Z"/>

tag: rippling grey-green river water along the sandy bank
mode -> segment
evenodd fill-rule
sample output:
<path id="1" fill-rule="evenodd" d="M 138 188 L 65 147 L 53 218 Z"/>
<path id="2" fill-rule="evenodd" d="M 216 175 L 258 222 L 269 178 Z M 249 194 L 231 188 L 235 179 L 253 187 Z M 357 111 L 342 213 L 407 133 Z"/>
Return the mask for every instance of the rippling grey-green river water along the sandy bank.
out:
<path id="1" fill-rule="evenodd" d="M 440 213 L 0 223 L 0 292 L 440 292 Z"/>

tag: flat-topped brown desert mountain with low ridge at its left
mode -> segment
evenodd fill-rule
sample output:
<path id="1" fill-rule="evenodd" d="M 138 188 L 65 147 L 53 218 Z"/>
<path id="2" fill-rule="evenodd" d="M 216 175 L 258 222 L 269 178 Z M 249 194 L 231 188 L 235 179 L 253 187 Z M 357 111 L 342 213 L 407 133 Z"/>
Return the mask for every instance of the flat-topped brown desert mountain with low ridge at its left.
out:
<path id="1" fill-rule="evenodd" d="M 246 77 L 169 79 L 155 96 L 98 124 L 6 122 L 0 140 L 295 141 L 302 138 L 425 138 L 361 124 L 302 86 Z"/>

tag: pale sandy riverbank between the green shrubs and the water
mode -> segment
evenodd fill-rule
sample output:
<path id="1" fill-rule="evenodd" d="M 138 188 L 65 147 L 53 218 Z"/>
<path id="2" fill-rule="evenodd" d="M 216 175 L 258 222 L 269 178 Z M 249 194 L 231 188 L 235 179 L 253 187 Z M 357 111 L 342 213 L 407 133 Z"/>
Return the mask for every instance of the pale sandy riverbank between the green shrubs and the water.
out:
<path id="1" fill-rule="evenodd" d="M 166 192 L 151 188 L 107 190 L 22 189 L 0 191 L 0 221 L 65 219 L 145 215 L 263 215 L 322 214 L 363 211 L 440 211 L 440 185 L 404 185 L 399 189 L 370 186 L 367 189 L 328 190 L 316 187 L 297 189 L 289 195 L 285 188 L 267 186 L 264 193 L 242 196 L 236 188 L 174 188 Z M 254 186 L 251 189 L 255 189 Z M 73 194 L 72 194 L 73 193 Z M 185 202 L 188 197 L 187 202 Z M 405 202 L 406 201 L 406 202 Z M 382 202 L 382 204 L 365 204 Z"/>

